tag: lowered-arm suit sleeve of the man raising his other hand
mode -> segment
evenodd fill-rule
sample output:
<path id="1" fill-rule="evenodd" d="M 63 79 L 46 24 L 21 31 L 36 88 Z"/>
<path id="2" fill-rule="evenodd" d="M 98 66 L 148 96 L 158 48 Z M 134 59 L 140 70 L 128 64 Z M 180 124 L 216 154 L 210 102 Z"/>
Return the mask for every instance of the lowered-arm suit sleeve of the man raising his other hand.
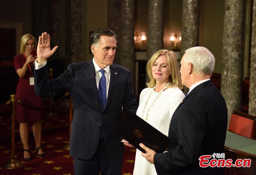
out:
<path id="1" fill-rule="evenodd" d="M 138 109 L 138 105 L 136 104 L 136 98 L 133 92 L 133 85 L 131 81 L 131 71 L 129 71 L 128 80 L 125 87 L 125 95 L 123 98 L 123 112 L 125 111 L 126 108 L 128 108 L 135 114 Z"/>

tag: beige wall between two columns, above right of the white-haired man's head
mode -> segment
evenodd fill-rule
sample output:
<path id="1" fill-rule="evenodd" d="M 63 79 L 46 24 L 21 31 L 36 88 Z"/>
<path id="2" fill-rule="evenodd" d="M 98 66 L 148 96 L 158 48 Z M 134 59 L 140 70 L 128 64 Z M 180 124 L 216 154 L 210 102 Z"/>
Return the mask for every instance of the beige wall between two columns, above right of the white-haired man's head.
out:
<path id="1" fill-rule="evenodd" d="M 208 48 L 215 57 L 214 73 L 221 73 L 222 37 L 225 2 L 200 1 L 199 46 Z"/>

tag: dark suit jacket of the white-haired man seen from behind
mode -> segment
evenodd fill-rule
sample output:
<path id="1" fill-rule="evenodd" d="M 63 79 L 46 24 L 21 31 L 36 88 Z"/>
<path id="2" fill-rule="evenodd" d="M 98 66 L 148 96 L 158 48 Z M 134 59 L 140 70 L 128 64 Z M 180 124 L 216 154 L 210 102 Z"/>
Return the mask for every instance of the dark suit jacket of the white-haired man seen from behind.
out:
<path id="1" fill-rule="evenodd" d="M 224 174 L 224 168 L 201 168 L 199 157 L 223 153 L 226 102 L 212 81 L 195 87 L 174 112 L 167 153 L 154 155 L 158 174 Z"/>

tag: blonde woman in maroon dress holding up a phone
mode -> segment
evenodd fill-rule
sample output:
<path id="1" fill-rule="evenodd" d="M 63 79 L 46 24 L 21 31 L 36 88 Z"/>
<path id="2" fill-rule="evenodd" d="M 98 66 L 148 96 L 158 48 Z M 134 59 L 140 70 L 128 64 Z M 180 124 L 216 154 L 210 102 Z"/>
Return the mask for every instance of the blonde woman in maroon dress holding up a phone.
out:
<path id="1" fill-rule="evenodd" d="M 25 34 L 20 40 L 20 55 L 14 57 L 14 67 L 19 76 L 16 88 L 16 99 L 31 106 L 42 106 L 42 98 L 37 97 L 34 92 L 34 77 L 31 67 L 34 65 L 35 57 L 31 50 L 36 48 L 36 40 L 31 34 Z M 38 156 L 43 157 L 41 148 L 42 112 L 27 108 L 16 103 L 16 121 L 20 123 L 20 138 L 24 147 L 24 159 L 32 160 L 28 148 L 28 123 L 33 123 L 33 133 L 36 142 Z"/>

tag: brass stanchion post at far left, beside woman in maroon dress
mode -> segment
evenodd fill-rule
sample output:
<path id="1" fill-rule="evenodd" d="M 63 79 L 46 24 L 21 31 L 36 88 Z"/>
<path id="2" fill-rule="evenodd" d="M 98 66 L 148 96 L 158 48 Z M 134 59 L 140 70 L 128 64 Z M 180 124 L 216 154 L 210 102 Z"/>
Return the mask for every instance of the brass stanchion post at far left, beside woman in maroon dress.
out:
<path id="1" fill-rule="evenodd" d="M 6 169 L 14 169 L 23 166 L 23 163 L 20 161 L 14 160 L 14 153 L 15 153 L 15 118 L 16 118 L 16 111 L 15 111 L 15 94 L 11 95 L 11 102 L 12 102 L 12 152 L 11 152 L 11 160 L 8 160 L 3 164 L 3 168 Z"/>

